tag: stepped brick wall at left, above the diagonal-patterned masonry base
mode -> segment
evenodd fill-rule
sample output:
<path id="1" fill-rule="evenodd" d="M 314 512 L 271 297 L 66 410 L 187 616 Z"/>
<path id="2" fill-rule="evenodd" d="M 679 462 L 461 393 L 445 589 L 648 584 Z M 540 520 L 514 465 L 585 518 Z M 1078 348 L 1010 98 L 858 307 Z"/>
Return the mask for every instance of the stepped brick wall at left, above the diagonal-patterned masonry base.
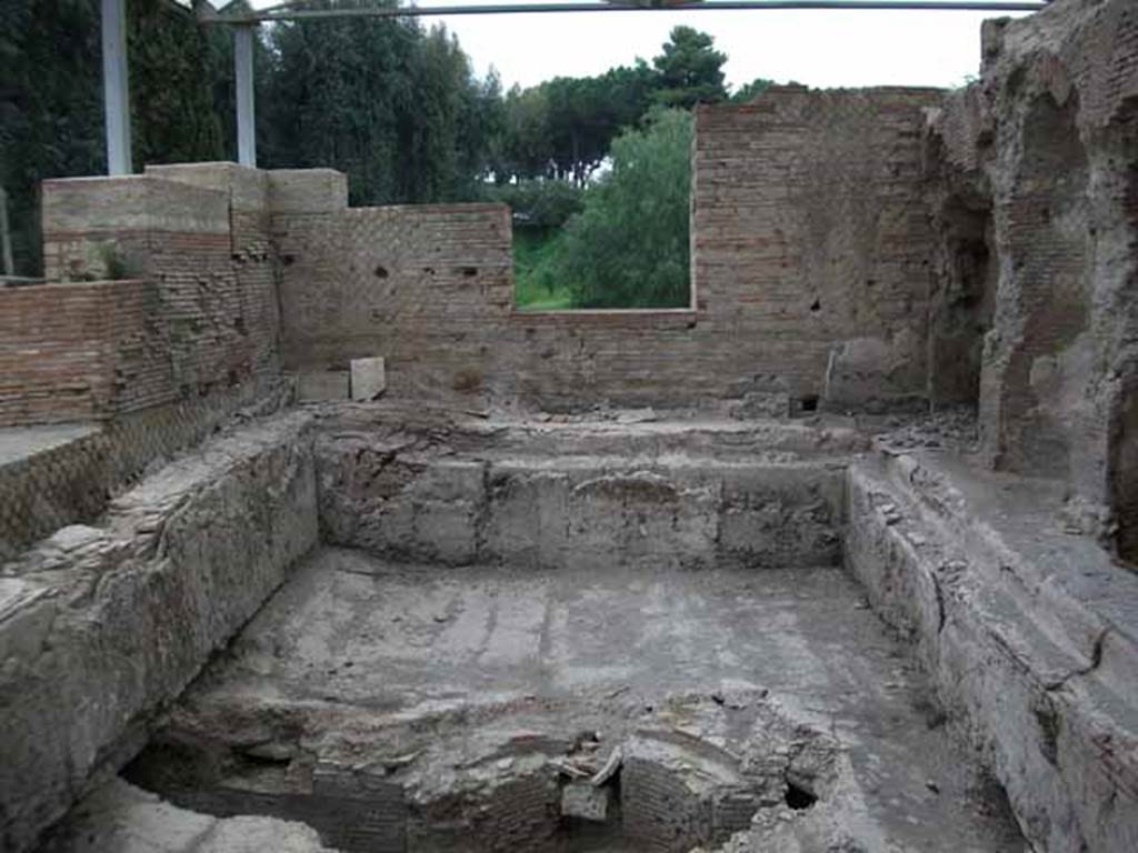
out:
<path id="1" fill-rule="evenodd" d="M 43 184 L 49 283 L 0 291 L 0 425 L 107 420 L 278 371 L 267 181 L 232 164 Z M 85 281 L 123 273 L 139 281 Z"/>

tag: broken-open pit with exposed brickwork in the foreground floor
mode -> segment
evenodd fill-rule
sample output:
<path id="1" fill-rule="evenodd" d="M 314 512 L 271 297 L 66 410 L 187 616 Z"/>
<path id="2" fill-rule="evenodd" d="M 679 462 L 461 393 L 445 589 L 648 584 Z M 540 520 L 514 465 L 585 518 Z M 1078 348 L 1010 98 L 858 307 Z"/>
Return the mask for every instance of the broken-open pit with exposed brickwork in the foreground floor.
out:
<path id="1" fill-rule="evenodd" d="M 715 848 L 760 810 L 813 806 L 786 779 L 802 755 L 808 772 L 833 777 L 826 756 L 840 752 L 766 690 L 673 695 L 632 718 L 550 702 L 409 715 L 366 739 L 344 732 L 354 764 L 300 746 L 318 735 L 297 738 L 297 719 L 257 720 L 257 744 L 242 724 L 253 721 L 229 719 L 234 728 L 159 735 L 124 778 L 192 811 L 302 821 L 345 853 Z"/>

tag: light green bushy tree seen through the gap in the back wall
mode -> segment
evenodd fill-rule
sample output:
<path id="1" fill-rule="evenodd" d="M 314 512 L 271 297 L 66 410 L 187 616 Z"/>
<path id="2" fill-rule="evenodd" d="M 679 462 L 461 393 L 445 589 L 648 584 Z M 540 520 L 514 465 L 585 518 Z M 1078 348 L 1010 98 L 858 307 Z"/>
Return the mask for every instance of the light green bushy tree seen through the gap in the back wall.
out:
<path id="1" fill-rule="evenodd" d="M 687 305 L 691 143 L 691 114 L 678 109 L 621 134 L 536 281 L 549 292 L 568 284 L 578 308 Z"/>

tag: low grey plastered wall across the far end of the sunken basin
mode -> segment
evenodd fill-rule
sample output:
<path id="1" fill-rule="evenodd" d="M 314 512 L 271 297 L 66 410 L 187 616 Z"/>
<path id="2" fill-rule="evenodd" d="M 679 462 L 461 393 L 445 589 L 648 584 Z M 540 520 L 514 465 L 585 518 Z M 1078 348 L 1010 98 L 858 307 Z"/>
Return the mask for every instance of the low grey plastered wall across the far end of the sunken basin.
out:
<path id="1" fill-rule="evenodd" d="M 322 539 L 448 565 L 782 568 L 841 557 L 838 448 L 828 448 L 832 456 L 770 448 L 740 455 L 732 441 L 748 437 L 733 431 L 678 437 L 651 426 L 594 438 L 592 453 L 574 453 L 551 436 L 527 447 L 523 434 L 502 431 L 481 447 L 440 454 L 429 433 L 412 441 L 406 431 L 322 428 Z M 699 456 L 660 448 L 701 438 L 720 446 Z"/>

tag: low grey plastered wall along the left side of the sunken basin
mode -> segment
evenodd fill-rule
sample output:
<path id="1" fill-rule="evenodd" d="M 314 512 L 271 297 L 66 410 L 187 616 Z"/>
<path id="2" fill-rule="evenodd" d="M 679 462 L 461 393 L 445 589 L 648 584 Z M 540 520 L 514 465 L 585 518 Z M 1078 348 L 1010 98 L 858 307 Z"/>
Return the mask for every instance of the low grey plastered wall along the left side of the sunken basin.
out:
<path id="1" fill-rule="evenodd" d="M 216 439 L 0 573 L 0 846 L 25 850 L 316 541 L 305 419 Z"/>

